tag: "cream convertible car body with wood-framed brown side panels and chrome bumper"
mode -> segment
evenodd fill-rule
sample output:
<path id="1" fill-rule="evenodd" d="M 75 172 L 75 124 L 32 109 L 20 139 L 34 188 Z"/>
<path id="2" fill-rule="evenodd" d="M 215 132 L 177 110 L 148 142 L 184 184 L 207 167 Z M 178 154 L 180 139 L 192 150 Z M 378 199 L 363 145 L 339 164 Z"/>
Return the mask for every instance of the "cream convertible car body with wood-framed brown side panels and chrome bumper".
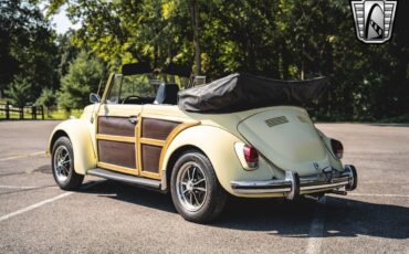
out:
<path id="1" fill-rule="evenodd" d="M 201 114 L 176 105 L 108 104 L 113 80 L 99 103 L 85 107 L 78 119 L 57 125 L 50 137 L 50 152 L 60 137 L 70 139 L 77 174 L 104 169 L 153 180 L 167 192 L 176 160 L 195 149 L 210 160 L 223 190 L 235 197 L 294 198 L 356 187 L 356 176 L 304 108 Z M 247 165 L 244 145 L 258 149 L 256 167 Z"/>

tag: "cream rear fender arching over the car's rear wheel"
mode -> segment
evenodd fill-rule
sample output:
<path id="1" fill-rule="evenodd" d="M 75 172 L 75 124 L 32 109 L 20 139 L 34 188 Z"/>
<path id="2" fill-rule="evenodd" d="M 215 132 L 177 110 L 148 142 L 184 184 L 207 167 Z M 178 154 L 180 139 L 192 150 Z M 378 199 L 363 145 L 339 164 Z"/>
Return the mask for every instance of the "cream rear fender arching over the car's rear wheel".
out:
<path id="1" fill-rule="evenodd" d="M 196 147 L 209 158 L 220 184 L 232 194 L 235 193 L 231 189 L 231 181 L 273 178 L 274 171 L 265 160 L 260 161 L 256 170 L 244 170 L 234 151 L 235 142 L 242 142 L 242 140 L 219 127 L 199 125 L 187 128 L 176 136 L 166 150 L 160 169 L 161 176 L 167 176 L 166 170 L 174 152 L 179 148 Z"/>

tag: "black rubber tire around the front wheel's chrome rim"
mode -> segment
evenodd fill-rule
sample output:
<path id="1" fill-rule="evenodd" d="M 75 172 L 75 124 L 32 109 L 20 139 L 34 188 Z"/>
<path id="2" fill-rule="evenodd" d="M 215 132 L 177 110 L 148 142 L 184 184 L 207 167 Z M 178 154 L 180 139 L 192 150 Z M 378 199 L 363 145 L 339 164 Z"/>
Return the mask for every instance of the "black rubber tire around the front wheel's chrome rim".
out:
<path id="1" fill-rule="evenodd" d="M 67 177 L 66 181 L 64 181 L 64 182 L 59 181 L 59 179 L 55 174 L 55 169 L 54 169 L 55 151 L 61 146 L 64 146 L 66 148 L 66 150 L 69 151 L 70 157 L 71 157 L 70 173 L 69 173 L 69 177 Z M 84 176 L 76 173 L 75 170 L 74 170 L 74 152 L 73 152 L 73 147 L 71 145 L 71 141 L 67 137 L 60 137 L 54 142 L 52 155 L 51 155 L 51 167 L 52 167 L 54 180 L 61 189 L 71 191 L 71 190 L 77 190 L 81 187 L 81 184 L 84 180 Z"/>

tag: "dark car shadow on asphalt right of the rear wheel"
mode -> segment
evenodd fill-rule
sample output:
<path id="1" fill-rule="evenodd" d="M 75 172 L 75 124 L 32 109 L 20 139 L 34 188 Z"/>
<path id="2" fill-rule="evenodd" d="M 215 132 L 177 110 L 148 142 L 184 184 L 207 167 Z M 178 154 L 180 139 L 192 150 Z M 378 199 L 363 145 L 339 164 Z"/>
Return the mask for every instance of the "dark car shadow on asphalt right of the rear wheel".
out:
<path id="1" fill-rule="evenodd" d="M 409 239 L 409 208 L 327 197 L 314 201 L 234 200 L 219 223 L 234 230 L 266 231 L 289 237 L 307 237 L 314 213 L 323 209 L 324 237 L 368 235 L 384 239 Z"/>

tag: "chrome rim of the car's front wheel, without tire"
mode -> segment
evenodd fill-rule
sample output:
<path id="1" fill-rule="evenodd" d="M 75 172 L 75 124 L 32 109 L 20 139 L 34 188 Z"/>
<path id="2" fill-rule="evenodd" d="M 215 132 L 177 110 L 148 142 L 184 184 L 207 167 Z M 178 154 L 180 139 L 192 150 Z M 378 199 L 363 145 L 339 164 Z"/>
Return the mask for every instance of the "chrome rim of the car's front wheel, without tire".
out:
<path id="1" fill-rule="evenodd" d="M 53 159 L 53 170 L 56 177 L 56 180 L 60 183 L 64 183 L 67 181 L 70 173 L 71 173 L 71 156 L 66 147 L 60 146 L 56 148 L 54 152 Z"/>

